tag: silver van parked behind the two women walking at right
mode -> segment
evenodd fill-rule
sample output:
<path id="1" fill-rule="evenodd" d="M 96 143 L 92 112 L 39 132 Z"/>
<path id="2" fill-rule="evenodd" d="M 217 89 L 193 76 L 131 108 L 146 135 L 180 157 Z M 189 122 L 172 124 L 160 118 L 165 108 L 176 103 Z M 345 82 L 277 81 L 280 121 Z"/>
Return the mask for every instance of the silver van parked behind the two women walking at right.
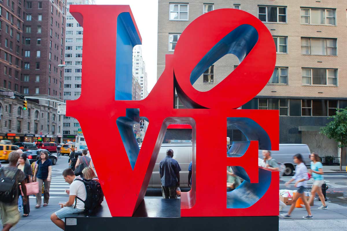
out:
<path id="1" fill-rule="evenodd" d="M 271 151 L 271 157 L 286 166 L 283 176 L 293 175 L 296 167 L 293 156 L 297 153 L 302 154 L 306 166 L 311 164 L 311 151 L 307 144 L 279 144 L 279 151 Z M 263 159 L 262 150 L 259 150 L 258 154 L 259 158 Z"/>

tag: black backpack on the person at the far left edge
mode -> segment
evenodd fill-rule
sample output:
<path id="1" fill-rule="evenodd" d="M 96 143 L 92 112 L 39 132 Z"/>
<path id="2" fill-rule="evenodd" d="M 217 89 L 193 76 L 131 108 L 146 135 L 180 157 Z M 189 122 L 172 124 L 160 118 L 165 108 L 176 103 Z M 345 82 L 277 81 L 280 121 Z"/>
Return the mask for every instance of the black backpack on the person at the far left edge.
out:
<path id="1" fill-rule="evenodd" d="M 21 171 L 17 170 L 14 177 L 9 178 L 3 175 L 3 168 L 0 168 L 0 201 L 3 203 L 12 203 L 18 195 L 18 185 L 16 184 L 16 177 Z"/>

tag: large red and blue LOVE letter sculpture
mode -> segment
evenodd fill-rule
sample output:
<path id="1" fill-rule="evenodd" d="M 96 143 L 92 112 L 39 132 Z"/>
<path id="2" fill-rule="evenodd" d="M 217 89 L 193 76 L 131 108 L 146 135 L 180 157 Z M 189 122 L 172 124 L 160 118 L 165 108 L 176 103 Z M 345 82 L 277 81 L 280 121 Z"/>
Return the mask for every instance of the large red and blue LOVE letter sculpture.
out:
<path id="1" fill-rule="evenodd" d="M 258 149 L 279 148 L 278 110 L 236 109 L 263 89 L 274 70 L 276 48 L 265 25 L 242 10 L 203 14 L 181 34 L 174 54 L 166 55 L 165 70 L 148 97 L 135 101 L 132 51 L 141 36 L 130 7 L 71 5 L 70 12 L 84 28 L 83 78 L 82 94 L 67 101 L 66 116 L 83 128 L 112 218 L 133 216 L 168 125 L 188 123 L 193 186 L 181 193 L 180 217 L 263 216 L 275 217 L 278 224 L 279 174 L 258 167 Z M 226 54 L 238 57 L 238 67 L 211 90 L 194 89 L 203 72 Z M 175 92 L 187 109 L 174 108 Z M 141 150 L 133 133 L 139 117 L 149 121 Z M 234 142 L 228 154 L 227 124 L 247 137 Z M 101 151 L 100 138 L 107 134 L 113 135 L 112 148 Z M 228 193 L 226 166 L 244 179 Z"/>

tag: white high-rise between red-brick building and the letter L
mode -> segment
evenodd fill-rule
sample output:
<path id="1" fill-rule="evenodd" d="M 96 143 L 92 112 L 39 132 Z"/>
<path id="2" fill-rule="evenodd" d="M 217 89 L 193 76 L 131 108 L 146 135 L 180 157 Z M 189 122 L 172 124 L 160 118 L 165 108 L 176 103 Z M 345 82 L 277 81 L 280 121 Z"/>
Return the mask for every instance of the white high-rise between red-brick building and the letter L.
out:
<path id="1" fill-rule="evenodd" d="M 68 0 L 66 7 L 64 101 L 75 100 L 81 95 L 83 27 L 70 14 L 70 5 L 94 5 L 94 0 Z M 70 66 L 73 65 L 73 66 Z M 63 140 L 74 141 L 81 128 L 77 119 L 64 116 Z"/>

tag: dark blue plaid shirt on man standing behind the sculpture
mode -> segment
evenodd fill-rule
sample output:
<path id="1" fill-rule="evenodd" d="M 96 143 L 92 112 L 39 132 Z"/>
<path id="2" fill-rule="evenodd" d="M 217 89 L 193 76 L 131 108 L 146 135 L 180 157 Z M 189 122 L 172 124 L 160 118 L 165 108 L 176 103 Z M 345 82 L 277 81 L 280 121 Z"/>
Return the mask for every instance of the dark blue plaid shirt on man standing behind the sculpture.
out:
<path id="1" fill-rule="evenodd" d="M 176 174 L 181 171 L 178 162 L 171 156 L 166 156 L 160 161 L 159 174 L 161 176 L 161 185 L 164 187 L 175 186 L 177 184 Z"/>

